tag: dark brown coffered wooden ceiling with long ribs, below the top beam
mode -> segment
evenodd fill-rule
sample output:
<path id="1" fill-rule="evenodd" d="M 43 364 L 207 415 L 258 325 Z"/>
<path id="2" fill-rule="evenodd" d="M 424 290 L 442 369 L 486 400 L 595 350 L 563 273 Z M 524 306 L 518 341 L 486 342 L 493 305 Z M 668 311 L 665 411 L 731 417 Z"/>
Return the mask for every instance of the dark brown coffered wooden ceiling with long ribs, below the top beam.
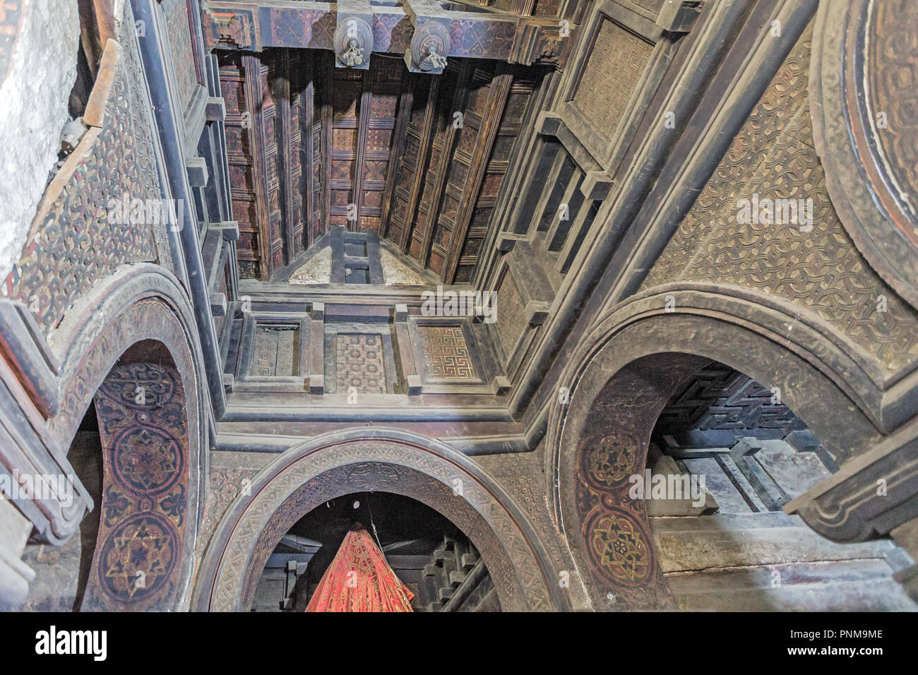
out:
<path id="1" fill-rule="evenodd" d="M 409 73 L 374 54 L 220 52 L 241 276 L 272 279 L 330 225 L 377 231 L 440 276 L 471 280 L 542 69 L 453 59 Z"/>

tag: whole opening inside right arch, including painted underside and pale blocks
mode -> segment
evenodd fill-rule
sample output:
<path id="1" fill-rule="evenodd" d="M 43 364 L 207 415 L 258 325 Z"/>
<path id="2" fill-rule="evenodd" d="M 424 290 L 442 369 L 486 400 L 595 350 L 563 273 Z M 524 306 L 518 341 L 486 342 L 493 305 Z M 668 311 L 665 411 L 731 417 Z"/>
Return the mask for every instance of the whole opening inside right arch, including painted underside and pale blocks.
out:
<path id="1" fill-rule="evenodd" d="M 594 606 L 913 607 L 889 541 L 837 544 L 781 511 L 838 468 L 784 393 L 697 354 L 586 371 L 560 467 Z"/>

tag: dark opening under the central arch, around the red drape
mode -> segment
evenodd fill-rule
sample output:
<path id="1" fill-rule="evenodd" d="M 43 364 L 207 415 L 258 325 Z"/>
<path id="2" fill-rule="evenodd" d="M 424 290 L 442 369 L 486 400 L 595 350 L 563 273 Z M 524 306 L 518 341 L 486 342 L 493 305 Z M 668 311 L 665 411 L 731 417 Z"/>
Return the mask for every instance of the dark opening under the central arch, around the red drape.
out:
<path id="1" fill-rule="evenodd" d="M 456 525 L 410 497 L 358 492 L 319 504 L 281 537 L 258 580 L 252 611 L 304 611 L 355 523 L 413 594 L 413 611 L 500 610 L 484 560 Z"/>

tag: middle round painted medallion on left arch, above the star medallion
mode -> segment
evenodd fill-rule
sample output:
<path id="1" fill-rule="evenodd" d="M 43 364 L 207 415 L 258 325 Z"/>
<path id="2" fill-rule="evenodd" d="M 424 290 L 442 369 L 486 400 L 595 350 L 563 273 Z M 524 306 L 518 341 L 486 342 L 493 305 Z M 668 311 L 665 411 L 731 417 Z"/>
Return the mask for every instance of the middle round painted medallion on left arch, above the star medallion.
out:
<path id="1" fill-rule="evenodd" d="M 162 429 L 131 426 L 112 447 L 112 473 L 124 489 L 159 495 L 172 488 L 185 468 L 182 448 Z"/>

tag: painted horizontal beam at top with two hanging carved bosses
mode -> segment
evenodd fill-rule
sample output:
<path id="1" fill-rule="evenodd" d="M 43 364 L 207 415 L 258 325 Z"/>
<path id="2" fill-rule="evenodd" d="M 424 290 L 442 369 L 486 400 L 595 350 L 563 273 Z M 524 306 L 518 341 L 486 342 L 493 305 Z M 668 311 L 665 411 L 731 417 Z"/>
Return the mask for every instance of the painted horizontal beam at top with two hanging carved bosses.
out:
<path id="1" fill-rule="evenodd" d="M 332 50 L 337 65 L 351 68 L 366 67 L 372 51 L 397 53 L 405 55 L 415 73 L 442 73 L 443 60 L 451 57 L 560 68 L 573 40 L 566 22 L 502 12 L 457 12 L 443 9 L 435 0 L 406 0 L 400 7 L 372 5 L 370 0 L 218 0 L 204 4 L 203 19 L 210 49 Z M 356 63 L 358 52 L 364 51 Z M 353 65 L 341 61 L 345 53 Z"/>

